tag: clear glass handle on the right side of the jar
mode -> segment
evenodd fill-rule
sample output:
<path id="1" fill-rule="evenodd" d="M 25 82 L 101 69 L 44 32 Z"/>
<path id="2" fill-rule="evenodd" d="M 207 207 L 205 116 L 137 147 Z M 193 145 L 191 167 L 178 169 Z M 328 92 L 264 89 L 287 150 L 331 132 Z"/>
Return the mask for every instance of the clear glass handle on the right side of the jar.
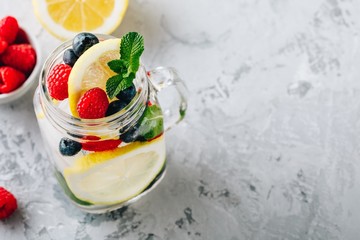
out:
<path id="1" fill-rule="evenodd" d="M 185 117 L 187 88 L 171 67 L 157 67 L 148 71 L 147 75 L 157 93 L 164 115 L 164 129 L 167 131 Z"/>

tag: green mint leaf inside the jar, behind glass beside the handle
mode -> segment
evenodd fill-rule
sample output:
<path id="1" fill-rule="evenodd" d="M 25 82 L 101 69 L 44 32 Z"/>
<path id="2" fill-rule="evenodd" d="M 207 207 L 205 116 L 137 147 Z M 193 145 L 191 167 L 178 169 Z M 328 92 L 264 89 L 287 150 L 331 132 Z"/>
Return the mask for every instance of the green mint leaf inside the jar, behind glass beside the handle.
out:
<path id="1" fill-rule="evenodd" d="M 164 120 L 161 108 L 157 105 L 146 107 L 140 119 L 138 133 L 146 140 L 150 140 L 160 135 L 164 131 Z"/>

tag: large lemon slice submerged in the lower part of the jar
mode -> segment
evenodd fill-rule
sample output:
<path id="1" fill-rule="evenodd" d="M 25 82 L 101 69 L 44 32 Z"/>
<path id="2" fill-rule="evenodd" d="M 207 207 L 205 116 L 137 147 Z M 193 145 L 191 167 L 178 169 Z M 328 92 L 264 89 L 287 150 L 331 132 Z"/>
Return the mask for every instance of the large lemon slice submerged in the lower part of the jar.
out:
<path id="1" fill-rule="evenodd" d="M 77 198 L 93 204 L 116 204 L 144 191 L 164 163 L 165 142 L 160 137 L 83 156 L 64 170 L 64 177 Z"/>

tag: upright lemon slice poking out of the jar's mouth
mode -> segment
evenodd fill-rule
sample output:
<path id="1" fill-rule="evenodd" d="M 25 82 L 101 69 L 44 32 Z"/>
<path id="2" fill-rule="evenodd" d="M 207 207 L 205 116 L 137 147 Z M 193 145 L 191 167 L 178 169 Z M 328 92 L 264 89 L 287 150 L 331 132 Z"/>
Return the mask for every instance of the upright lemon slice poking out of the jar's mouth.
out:
<path id="1" fill-rule="evenodd" d="M 76 61 L 68 81 L 69 105 L 73 116 L 79 117 L 76 106 L 87 90 L 94 87 L 105 90 L 106 81 L 116 75 L 107 63 L 120 58 L 120 41 L 120 39 L 102 41 L 89 48 Z"/>

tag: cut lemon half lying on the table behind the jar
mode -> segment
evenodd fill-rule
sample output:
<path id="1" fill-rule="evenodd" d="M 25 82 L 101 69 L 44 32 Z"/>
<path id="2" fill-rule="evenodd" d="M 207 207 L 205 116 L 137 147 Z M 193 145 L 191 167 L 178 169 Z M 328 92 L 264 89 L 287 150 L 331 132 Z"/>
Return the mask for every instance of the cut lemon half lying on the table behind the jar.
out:
<path id="1" fill-rule="evenodd" d="M 65 40 L 78 32 L 113 32 L 121 23 L 128 0 L 33 0 L 35 15 L 55 37 Z"/>

